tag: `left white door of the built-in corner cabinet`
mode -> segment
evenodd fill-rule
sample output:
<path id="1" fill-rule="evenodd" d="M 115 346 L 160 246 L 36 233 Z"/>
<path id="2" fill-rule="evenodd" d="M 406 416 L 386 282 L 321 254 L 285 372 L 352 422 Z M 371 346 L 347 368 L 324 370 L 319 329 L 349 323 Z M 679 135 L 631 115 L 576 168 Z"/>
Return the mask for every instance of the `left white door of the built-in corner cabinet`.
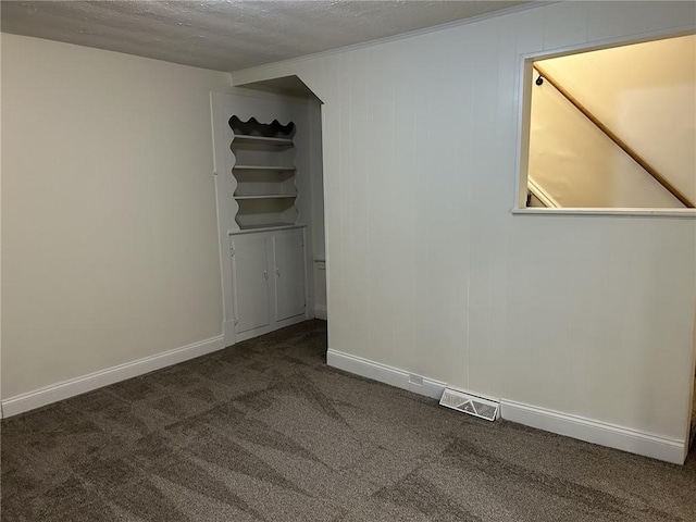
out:
<path id="1" fill-rule="evenodd" d="M 232 248 L 235 331 L 240 334 L 271 323 L 266 236 L 235 237 Z"/>

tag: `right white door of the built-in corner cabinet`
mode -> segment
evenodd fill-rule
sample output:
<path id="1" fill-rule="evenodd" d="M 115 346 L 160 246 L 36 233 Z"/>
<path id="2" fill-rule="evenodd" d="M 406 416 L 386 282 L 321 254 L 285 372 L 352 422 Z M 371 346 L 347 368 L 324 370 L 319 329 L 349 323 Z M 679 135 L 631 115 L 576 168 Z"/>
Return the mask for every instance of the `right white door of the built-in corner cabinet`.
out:
<path id="1" fill-rule="evenodd" d="M 304 313 L 303 231 L 278 232 L 273 236 L 275 259 L 275 320 Z"/>

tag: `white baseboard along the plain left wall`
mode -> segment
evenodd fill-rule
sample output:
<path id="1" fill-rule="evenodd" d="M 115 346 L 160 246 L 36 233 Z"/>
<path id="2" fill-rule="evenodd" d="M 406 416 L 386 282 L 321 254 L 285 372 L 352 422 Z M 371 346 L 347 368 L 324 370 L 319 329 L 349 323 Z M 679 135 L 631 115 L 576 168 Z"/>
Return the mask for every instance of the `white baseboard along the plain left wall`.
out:
<path id="1" fill-rule="evenodd" d="M 35 389 L 26 394 L 16 395 L 2 400 L 4 417 L 12 417 L 25 411 L 40 408 L 59 400 L 85 394 L 110 384 L 136 377 L 154 370 L 194 359 L 223 349 L 223 336 L 194 343 L 182 348 L 164 351 L 136 361 L 126 362 L 108 368 L 99 372 L 89 373 L 80 377 L 63 381 L 62 383 Z"/>

